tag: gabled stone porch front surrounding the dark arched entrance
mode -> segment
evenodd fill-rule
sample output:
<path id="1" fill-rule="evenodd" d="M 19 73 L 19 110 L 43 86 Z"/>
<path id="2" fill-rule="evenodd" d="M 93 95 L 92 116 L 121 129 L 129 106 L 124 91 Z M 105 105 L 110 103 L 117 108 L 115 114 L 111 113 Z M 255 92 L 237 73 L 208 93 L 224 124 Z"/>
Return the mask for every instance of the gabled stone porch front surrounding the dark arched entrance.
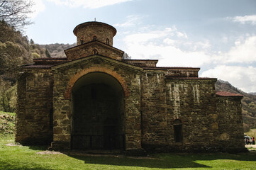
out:
<path id="1" fill-rule="evenodd" d="M 92 72 L 105 72 L 110 76 L 119 75 L 122 79 L 118 79 L 123 84 L 125 91 L 125 113 L 124 124 L 126 132 L 126 149 L 141 148 L 141 131 L 140 131 L 140 69 L 122 64 L 106 57 L 88 57 L 80 62 L 69 62 L 56 67 L 54 70 L 54 128 L 52 147 L 70 149 L 70 139 L 72 135 L 72 91 L 69 91 L 70 83 L 74 83 L 72 77 L 82 77 Z M 97 71 L 98 70 L 98 71 Z M 77 77 L 77 79 L 79 79 Z M 126 85 L 124 85 L 126 84 Z M 127 89 L 128 87 L 128 89 Z M 66 94 L 69 91 L 69 95 Z"/>

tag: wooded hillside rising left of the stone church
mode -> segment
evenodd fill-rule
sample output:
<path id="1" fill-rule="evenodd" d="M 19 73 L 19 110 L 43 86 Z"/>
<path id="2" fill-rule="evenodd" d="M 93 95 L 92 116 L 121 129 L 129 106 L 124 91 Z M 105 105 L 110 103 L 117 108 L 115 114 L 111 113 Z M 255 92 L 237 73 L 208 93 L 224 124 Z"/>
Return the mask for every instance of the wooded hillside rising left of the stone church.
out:
<path id="1" fill-rule="evenodd" d="M 0 21 L 0 111 L 15 111 L 16 80 L 21 65 L 33 63 L 34 58 L 46 57 L 46 53 L 45 48 Z"/>

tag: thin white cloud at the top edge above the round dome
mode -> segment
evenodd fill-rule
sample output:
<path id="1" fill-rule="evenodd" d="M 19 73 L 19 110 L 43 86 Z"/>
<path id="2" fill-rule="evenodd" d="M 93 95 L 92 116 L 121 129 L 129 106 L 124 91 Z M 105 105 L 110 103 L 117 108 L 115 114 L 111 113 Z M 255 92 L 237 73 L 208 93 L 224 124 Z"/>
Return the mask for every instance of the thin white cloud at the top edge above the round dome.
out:
<path id="1" fill-rule="evenodd" d="M 71 7 L 83 6 L 84 8 L 101 8 L 113 4 L 120 4 L 126 1 L 133 0 L 48 0 L 55 2 L 57 5 L 65 5 Z"/>

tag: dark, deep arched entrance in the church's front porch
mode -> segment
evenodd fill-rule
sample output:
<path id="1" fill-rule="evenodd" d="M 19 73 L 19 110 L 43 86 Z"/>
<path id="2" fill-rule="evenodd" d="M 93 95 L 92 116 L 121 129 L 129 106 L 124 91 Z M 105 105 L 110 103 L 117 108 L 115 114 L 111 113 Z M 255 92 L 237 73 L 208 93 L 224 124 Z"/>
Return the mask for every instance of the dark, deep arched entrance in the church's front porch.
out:
<path id="1" fill-rule="evenodd" d="M 72 88 L 72 149 L 124 149 L 124 91 L 104 72 L 90 72 Z"/>

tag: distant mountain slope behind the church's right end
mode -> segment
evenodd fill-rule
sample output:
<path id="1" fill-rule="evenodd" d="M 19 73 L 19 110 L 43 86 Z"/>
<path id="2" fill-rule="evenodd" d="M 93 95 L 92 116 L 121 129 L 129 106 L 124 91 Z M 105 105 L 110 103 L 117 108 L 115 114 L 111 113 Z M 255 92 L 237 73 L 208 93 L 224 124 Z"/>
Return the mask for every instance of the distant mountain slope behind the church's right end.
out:
<path id="1" fill-rule="evenodd" d="M 247 94 L 240 89 L 232 86 L 228 81 L 218 80 L 216 82 L 216 91 L 228 91 L 230 93 L 242 94 L 242 113 L 243 122 L 249 125 L 250 128 L 256 128 L 256 96 Z"/>

